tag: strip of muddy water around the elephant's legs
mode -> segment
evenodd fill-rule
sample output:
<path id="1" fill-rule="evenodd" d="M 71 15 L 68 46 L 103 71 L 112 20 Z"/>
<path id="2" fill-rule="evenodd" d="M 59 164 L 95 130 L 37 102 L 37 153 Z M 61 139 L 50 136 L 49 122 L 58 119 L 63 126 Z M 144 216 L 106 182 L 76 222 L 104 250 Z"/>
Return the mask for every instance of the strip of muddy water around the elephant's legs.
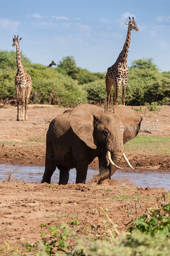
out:
<path id="1" fill-rule="evenodd" d="M 26 182 L 40 183 L 44 173 L 44 166 L 21 166 L 21 165 L 7 165 L 0 164 L 0 180 L 6 180 L 8 173 L 12 172 L 11 176 L 18 180 Z M 4 176 L 4 173 L 6 176 Z M 86 183 L 90 182 L 93 175 L 99 173 L 97 170 L 88 169 Z M 166 188 L 170 190 L 170 172 L 168 171 L 127 171 L 117 170 L 111 177 L 111 185 L 129 185 L 137 187 L 151 188 Z M 57 183 L 59 180 L 59 170 L 54 172 L 51 183 Z M 69 183 L 74 183 L 76 180 L 76 170 L 70 170 Z"/>

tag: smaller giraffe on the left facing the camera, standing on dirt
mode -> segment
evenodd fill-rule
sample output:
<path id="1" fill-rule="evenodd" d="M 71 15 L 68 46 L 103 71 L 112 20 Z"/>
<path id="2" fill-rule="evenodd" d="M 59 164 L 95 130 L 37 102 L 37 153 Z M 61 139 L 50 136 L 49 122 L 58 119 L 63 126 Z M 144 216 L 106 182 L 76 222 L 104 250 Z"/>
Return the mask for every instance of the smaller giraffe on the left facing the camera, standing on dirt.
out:
<path id="1" fill-rule="evenodd" d="M 25 93 L 26 93 L 26 116 L 25 120 L 28 119 L 27 117 L 27 105 L 28 105 L 28 99 L 30 96 L 30 92 L 32 90 L 32 79 L 31 76 L 26 72 L 22 61 L 21 61 L 21 55 L 20 55 L 20 50 L 19 50 L 19 41 L 22 39 L 17 37 L 12 38 L 11 40 L 13 41 L 12 46 L 14 47 L 15 45 L 17 46 L 17 74 L 15 76 L 15 90 L 17 92 L 17 121 L 19 121 L 19 92 L 21 96 L 21 102 L 22 102 L 22 108 L 21 108 L 21 116 L 20 120 L 24 121 L 24 103 L 25 103 Z"/>

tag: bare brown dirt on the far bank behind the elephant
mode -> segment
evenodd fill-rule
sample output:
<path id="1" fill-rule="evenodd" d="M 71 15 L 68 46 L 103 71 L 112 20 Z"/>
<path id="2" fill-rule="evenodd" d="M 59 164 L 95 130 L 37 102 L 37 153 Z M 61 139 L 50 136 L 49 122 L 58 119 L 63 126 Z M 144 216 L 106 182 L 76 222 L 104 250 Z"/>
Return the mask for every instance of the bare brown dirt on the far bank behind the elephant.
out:
<path id="1" fill-rule="evenodd" d="M 139 109 L 140 107 L 132 107 Z M 143 116 L 141 123 L 149 129 L 150 133 L 140 131 L 137 136 L 162 137 L 170 135 L 170 106 L 161 106 L 159 112 L 148 111 L 142 106 L 139 113 Z M 63 113 L 68 108 L 59 108 L 54 105 L 28 105 L 28 120 L 16 121 L 17 107 L 0 109 L 0 163 L 44 165 L 46 150 L 46 133 L 49 123 L 53 118 Z M 35 141 L 36 140 L 36 141 Z M 38 141 L 37 141 L 38 140 Z M 168 153 L 165 156 L 145 156 L 142 153 L 136 155 L 131 152 L 127 155 L 130 163 L 135 168 L 143 169 L 168 169 L 170 168 Z M 121 166 L 127 168 L 122 161 Z M 91 168 L 98 168 L 96 158 Z"/>

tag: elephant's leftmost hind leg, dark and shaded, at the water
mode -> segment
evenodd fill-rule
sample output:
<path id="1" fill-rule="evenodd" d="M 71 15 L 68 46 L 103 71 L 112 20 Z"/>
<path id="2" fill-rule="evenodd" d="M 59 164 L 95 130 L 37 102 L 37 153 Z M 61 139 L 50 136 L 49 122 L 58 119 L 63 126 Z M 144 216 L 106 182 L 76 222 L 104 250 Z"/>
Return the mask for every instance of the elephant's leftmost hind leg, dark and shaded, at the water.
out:
<path id="1" fill-rule="evenodd" d="M 45 171 L 44 174 L 42 176 L 42 180 L 41 183 L 47 182 L 47 183 L 51 183 L 51 176 L 53 175 L 53 172 L 56 169 L 56 163 L 54 160 L 48 159 L 46 158 L 46 162 L 45 162 Z"/>

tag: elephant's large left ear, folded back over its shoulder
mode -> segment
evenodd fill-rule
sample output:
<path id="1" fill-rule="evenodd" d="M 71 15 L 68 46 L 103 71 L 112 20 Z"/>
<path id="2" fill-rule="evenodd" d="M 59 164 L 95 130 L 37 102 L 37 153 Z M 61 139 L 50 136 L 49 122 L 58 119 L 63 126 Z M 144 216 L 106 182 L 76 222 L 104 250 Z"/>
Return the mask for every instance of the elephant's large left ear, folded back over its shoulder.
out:
<path id="1" fill-rule="evenodd" d="M 101 115 L 104 108 L 90 104 L 79 104 L 69 115 L 70 126 L 76 135 L 90 148 L 96 149 L 94 117 Z"/>

